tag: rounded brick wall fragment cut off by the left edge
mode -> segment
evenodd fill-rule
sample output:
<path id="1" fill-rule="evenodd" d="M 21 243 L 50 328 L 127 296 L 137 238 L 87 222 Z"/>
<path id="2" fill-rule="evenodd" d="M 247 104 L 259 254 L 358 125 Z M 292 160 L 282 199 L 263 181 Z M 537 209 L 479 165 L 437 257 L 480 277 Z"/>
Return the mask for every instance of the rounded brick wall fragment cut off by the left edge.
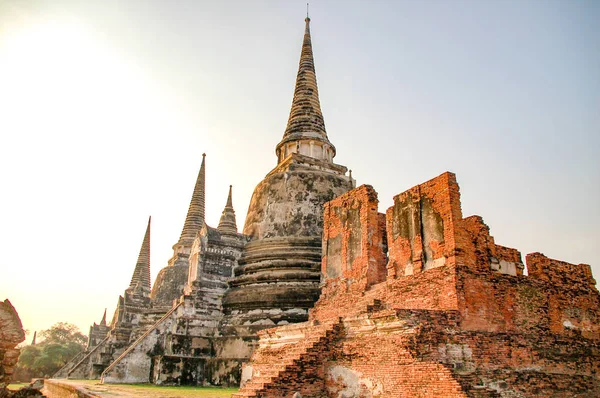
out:
<path id="1" fill-rule="evenodd" d="M 0 302 L 0 395 L 10 384 L 20 350 L 15 348 L 25 340 L 19 314 L 8 299 Z"/>

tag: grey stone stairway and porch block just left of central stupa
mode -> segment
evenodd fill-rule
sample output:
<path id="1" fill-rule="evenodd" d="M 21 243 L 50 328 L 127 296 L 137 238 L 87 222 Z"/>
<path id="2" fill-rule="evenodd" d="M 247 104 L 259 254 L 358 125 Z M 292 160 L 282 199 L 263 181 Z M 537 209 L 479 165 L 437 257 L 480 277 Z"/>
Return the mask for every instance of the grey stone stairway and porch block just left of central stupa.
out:
<path id="1" fill-rule="evenodd" d="M 234 231 L 202 227 L 190 250 L 184 295 L 106 368 L 105 382 L 237 385 L 250 352 L 240 339 L 218 333 L 227 281 L 247 242 Z"/>

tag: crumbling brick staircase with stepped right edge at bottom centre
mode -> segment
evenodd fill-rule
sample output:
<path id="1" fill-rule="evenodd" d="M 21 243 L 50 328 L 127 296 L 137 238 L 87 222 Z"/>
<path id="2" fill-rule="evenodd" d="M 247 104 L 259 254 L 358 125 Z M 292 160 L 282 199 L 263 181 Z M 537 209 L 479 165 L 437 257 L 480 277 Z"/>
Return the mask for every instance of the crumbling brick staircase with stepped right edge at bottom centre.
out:
<path id="1" fill-rule="evenodd" d="M 341 320 L 305 322 L 264 330 L 251 358 L 252 378 L 232 398 L 287 397 L 302 387 L 303 396 L 324 393 L 319 364 L 342 331 Z M 306 386 L 312 391 L 307 394 Z"/>

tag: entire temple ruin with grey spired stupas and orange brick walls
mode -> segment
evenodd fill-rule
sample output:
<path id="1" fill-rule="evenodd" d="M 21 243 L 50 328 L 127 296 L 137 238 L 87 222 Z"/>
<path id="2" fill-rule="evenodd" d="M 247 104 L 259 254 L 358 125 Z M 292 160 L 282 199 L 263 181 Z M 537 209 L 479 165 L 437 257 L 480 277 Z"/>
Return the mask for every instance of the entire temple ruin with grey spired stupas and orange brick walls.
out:
<path id="1" fill-rule="evenodd" d="M 56 376 L 241 382 L 237 397 L 600 396 L 590 267 L 540 253 L 525 267 L 481 217 L 463 218 L 449 172 L 379 213 L 374 189 L 333 163 L 309 25 L 242 233 L 231 187 L 206 224 L 203 155 L 168 265 L 151 287 L 149 220 L 112 321 Z"/>

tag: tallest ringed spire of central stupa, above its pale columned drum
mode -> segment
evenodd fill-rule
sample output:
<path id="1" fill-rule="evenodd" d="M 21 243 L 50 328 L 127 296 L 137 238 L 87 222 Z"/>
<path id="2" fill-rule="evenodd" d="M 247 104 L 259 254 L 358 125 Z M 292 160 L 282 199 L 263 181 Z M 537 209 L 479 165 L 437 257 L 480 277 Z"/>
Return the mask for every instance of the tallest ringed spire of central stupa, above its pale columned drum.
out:
<path id="1" fill-rule="evenodd" d="M 304 41 L 302 43 L 302 53 L 300 55 L 298 76 L 296 77 L 296 88 L 294 90 L 294 99 L 292 100 L 292 109 L 290 111 L 290 117 L 285 133 L 283 134 L 283 139 L 277 145 L 276 152 L 279 156 L 281 147 L 284 144 L 299 140 L 312 140 L 326 144 L 326 146 L 333 151 L 333 156 L 335 156 L 335 148 L 327 138 L 325 121 L 323 120 L 323 114 L 321 113 L 317 76 L 315 74 L 310 37 L 310 18 L 308 17 L 308 10 L 305 22 Z M 281 161 L 282 157 L 280 156 L 279 158 Z"/>

